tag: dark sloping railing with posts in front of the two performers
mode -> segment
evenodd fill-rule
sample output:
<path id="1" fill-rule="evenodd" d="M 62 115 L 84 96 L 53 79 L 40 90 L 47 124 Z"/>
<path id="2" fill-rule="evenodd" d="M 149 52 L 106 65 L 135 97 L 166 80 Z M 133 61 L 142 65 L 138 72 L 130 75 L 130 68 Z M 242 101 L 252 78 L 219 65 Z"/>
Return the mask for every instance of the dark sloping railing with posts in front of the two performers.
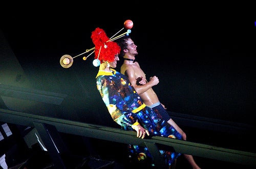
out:
<path id="1" fill-rule="evenodd" d="M 166 150 L 172 148 L 172 150 L 182 154 L 190 154 L 203 158 L 256 166 L 256 154 L 251 152 L 226 149 L 160 136 L 153 136 L 150 139 L 141 139 L 137 138 L 136 134 L 132 131 L 124 131 L 112 127 L 25 114 L 23 112 L 6 109 L 0 109 L 0 119 L 2 122 L 36 128 L 46 148 L 49 150 L 50 156 L 57 168 L 66 167 L 59 156 L 59 151 L 56 149 L 56 146 L 60 146 L 56 142 L 57 139 L 53 138 L 56 137 L 56 132 L 98 138 L 124 144 L 145 146 L 150 150 L 156 166 L 159 167 L 162 167 L 163 165 L 163 159 L 159 153 L 159 147 Z"/>

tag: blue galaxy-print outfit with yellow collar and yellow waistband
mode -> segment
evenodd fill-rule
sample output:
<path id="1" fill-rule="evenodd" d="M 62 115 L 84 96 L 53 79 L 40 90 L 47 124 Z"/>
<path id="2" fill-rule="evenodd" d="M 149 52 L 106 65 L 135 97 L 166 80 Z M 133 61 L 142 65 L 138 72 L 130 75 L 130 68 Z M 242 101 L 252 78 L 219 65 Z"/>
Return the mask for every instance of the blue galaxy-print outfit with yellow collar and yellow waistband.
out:
<path id="1" fill-rule="evenodd" d="M 170 126 L 160 114 L 157 114 L 150 107 L 145 106 L 137 94 L 129 79 L 120 72 L 111 69 L 112 72 L 99 71 L 96 76 L 97 90 L 112 119 L 124 130 L 133 130 L 132 125 L 138 122 L 150 132 L 151 136 L 163 136 L 181 139 L 181 134 L 173 126 Z M 134 130 L 133 130 L 134 131 Z M 152 158 L 145 147 L 130 145 L 130 153 L 143 158 Z M 180 156 L 180 153 L 162 151 L 167 165 Z"/>

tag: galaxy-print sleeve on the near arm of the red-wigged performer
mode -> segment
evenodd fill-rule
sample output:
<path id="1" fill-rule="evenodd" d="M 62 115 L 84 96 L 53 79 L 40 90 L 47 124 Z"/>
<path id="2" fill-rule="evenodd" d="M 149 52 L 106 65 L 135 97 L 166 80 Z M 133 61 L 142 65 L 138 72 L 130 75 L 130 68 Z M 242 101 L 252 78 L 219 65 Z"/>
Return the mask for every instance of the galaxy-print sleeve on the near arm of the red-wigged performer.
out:
<path id="1" fill-rule="evenodd" d="M 125 96 L 120 94 L 119 88 L 113 79 L 108 78 L 108 76 L 97 78 L 97 89 L 112 119 L 122 127 L 130 127 L 136 123 L 138 118 L 127 107 Z"/>

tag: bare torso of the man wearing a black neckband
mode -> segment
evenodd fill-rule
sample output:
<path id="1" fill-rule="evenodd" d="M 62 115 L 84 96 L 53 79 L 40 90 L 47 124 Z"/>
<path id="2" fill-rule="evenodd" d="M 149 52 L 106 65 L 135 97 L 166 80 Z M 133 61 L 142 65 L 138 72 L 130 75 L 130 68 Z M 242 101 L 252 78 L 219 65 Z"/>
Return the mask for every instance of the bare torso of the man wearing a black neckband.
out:
<path id="1" fill-rule="evenodd" d="M 125 72 L 127 69 L 133 69 L 134 70 L 134 71 L 132 71 L 133 72 L 133 76 L 132 77 Z M 123 64 L 121 66 L 121 73 L 125 74 L 126 76 L 128 76 L 128 78 L 131 81 L 132 85 L 135 87 L 135 90 L 136 90 L 136 79 L 138 77 L 144 77 L 146 79 L 145 73 L 140 68 L 140 66 L 139 66 L 139 64 L 137 62 L 135 62 L 133 64 Z M 139 87 L 143 88 L 143 86 L 139 86 Z M 143 100 L 143 102 L 146 105 L 148 105 L 148 106 L 159 102 L 158 97 L 157 97 L 156 93 L 154 92 L 154 90 L 152 88 L 149 88 L 145 92 L 141 93 L 140 97 Z"/>

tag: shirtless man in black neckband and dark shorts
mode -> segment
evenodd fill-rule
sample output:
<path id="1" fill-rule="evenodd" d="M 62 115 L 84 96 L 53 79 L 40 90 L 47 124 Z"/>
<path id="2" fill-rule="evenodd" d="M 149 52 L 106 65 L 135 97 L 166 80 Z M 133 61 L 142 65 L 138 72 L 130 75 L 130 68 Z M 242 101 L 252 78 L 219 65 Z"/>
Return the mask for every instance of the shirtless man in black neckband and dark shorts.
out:
<path id="1" fill-rule="evenodd" d="M 157 94 L 152 89 L 153 86 L 159 83 L 158 77 L 150 77 L 150 81 L 147 81 L 145 73 L 140 68 L 139 63 L 134 62 L 135 56 L 138 54 L 138 52 L 137 46 L 134 44 L 131 37 L 121 37 L 117 40 L 117 43 L 121 47 L 119 56 L 123 57 L 124 59 L 120 72 L 129 78 L 130 82 L 132 83 L 133 87 L 143 102 L 148 107 L 151 107 L 154 111 L 159 112 L 162 118 L 166 120 L 170 125 L 172 125 L 182 135 L 182 139 L 186 140 L 185 132 L 172 120 L 172 118 L 170 118 L 165 106 L 160 103 Z M 143 82 L 141 82 L 141 79 L 144 79 L 142 80 Z M 193 156 L 187 154 L 183 155 L 192 168 L 200 168 L 195 162 Z"/>

